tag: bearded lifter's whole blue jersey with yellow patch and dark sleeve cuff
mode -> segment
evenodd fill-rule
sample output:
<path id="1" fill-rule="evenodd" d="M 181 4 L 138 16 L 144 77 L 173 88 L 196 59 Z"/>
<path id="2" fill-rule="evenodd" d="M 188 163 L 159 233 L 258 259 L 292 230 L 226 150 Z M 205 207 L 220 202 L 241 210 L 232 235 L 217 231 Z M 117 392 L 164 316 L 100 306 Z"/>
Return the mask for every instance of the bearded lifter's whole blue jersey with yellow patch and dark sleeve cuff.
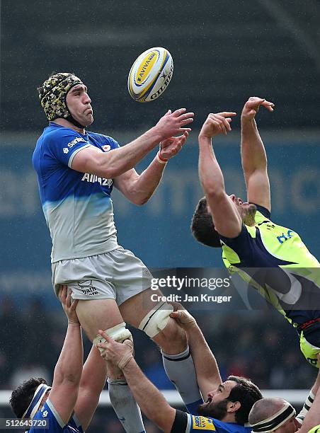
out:
<path id="1" fill-rule="evenodd" d="M 171 433 L 195 433 L 199 430 L 216 431 L 217 433 L 251 433 L 252 427 L 176 410 Z"/>

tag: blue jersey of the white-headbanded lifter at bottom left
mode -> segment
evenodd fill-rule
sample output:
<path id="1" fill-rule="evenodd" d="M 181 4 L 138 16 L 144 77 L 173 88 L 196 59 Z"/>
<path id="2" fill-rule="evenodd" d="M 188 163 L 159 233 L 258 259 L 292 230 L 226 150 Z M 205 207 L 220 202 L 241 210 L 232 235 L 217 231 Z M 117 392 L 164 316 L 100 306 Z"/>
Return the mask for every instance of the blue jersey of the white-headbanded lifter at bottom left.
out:
<path id="1" fill-rule="evenodd" d="M 47 429 L 31 428 L 29 433 L 84 433 L 79 421 L 76 417 L 70 418 L 67 425 L 64 424 L 62 419 L 59 417 L 57 410 L 52 405 L 50 400 L 46 400 L 41 410 L 35 414 L 33 420 L 47 420 Z"/>

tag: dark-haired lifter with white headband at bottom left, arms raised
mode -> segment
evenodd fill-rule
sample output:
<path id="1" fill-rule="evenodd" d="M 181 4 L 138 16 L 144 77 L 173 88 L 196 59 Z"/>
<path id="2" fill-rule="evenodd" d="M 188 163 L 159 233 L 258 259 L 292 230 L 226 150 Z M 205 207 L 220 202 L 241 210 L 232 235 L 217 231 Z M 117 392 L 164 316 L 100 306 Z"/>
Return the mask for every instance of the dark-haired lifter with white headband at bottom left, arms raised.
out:
<path id="1" fill-rule="evenodd" d="M 68 328 L 52 386 L 47 386 L 45 379 L 32 378 L 11 394 L 11 408 L 18 418 L 48 421 L 48 429 L 31 428 L 29 432 L 83 433 L 105 385 L 107 369 L 96 347 L 92 347 L 83 366 L 81 327 L 76 316 L 78 301 L 72 301 L 66 286 L 59 292 L 59 298 L 68 318 Z"/>

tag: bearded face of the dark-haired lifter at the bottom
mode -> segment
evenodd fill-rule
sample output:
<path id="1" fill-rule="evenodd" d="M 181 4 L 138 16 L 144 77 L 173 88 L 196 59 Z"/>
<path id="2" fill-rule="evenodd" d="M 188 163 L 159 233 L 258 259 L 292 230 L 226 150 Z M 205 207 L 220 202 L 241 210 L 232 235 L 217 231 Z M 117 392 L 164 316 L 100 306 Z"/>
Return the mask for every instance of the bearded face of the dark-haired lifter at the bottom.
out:
<path id="1" fill-rule="evenodd" d="M 236 386 L 235 381 L 220 383 L 215 391 L 208 393 L 207 401 L 198 408 L 198 414 L 223 420 L 227 415 L 227 403 L 229 401 L 227 398 L 234 386 Z"/>

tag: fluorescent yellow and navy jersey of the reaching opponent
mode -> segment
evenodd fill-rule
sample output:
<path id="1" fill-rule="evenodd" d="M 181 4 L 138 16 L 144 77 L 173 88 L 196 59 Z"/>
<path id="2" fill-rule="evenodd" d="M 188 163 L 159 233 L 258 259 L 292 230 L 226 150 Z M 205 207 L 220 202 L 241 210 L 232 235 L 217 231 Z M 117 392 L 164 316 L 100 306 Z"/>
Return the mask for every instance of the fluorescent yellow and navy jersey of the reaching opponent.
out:
<path id="1" fill-rule="evenodd" d="M 268 209 L 256 207 L 254 226 L 242 224 L 236 238 L 220 236 L 224 265 L 295 327 L 320 318 L 320 263 L 296 231 L 275 224 Z"/>

